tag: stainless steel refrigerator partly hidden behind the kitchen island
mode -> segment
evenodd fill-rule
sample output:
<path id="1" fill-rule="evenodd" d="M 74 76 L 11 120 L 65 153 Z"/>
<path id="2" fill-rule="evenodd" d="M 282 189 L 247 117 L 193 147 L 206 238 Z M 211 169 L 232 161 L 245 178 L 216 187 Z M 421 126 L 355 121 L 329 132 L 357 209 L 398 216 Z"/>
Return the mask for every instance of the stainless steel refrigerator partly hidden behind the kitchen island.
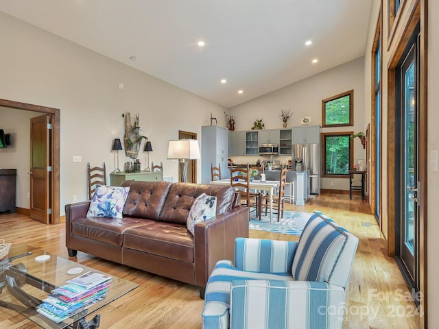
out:
<path id="1" fill-rule="evenodd" d="M 292 171 L 309 171 L 309 194 L 320 194 L 320 145 L 292 145 Z"/>

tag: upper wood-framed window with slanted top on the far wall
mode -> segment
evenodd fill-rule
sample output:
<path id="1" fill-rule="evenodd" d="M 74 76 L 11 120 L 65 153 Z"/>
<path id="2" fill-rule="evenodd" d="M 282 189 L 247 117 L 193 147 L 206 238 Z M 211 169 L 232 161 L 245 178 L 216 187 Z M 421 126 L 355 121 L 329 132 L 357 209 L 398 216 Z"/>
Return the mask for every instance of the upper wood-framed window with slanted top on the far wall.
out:
<path id="1" fill-rule="evenodd" d="M 322 101 L 322 126 L 342 127 L 354 124 L 354 90 Z"/>

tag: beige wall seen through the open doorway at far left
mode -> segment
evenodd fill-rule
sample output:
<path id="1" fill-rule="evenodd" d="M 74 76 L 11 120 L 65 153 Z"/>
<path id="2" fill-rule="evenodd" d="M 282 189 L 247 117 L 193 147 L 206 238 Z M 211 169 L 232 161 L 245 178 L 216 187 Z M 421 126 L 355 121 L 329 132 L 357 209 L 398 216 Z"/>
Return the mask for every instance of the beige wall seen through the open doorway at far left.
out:
<path id="1" fill-rule="evenodd" d="M 11 145 L 0 149 L 0 168 L 16 169 L 15 206 L 19 208 L 29 209 L 30 118 L 37 116 L 36 112 L 0 107 L 0 129 L 11 134 Z"/>

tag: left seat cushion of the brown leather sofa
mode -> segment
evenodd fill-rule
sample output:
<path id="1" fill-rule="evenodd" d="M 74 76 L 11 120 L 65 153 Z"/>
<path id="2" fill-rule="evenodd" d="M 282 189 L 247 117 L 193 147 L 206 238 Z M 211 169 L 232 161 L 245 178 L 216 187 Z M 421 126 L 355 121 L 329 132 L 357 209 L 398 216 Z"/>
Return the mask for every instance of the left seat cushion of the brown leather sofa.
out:
<path id="1" fill-rule="evenodd" d="M 144 222 L 145 219 L 141 218 L 84 217 L 73 221 L 71 232 L 73 235 L 120 247 L 123 233 L 130 228 L 142 226 Z"/>

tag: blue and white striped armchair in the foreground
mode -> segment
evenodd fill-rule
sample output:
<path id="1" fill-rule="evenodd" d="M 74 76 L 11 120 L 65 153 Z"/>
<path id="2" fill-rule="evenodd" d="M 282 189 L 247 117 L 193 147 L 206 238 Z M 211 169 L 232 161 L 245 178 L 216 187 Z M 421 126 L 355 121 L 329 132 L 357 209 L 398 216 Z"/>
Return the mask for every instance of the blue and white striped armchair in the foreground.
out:
<path id="1" fill-rule="evenodd" d="M 237 238 L 206 285 L 204 329 L 342 328 L 358 239 L 314 212 L 298 242 Z"/>

